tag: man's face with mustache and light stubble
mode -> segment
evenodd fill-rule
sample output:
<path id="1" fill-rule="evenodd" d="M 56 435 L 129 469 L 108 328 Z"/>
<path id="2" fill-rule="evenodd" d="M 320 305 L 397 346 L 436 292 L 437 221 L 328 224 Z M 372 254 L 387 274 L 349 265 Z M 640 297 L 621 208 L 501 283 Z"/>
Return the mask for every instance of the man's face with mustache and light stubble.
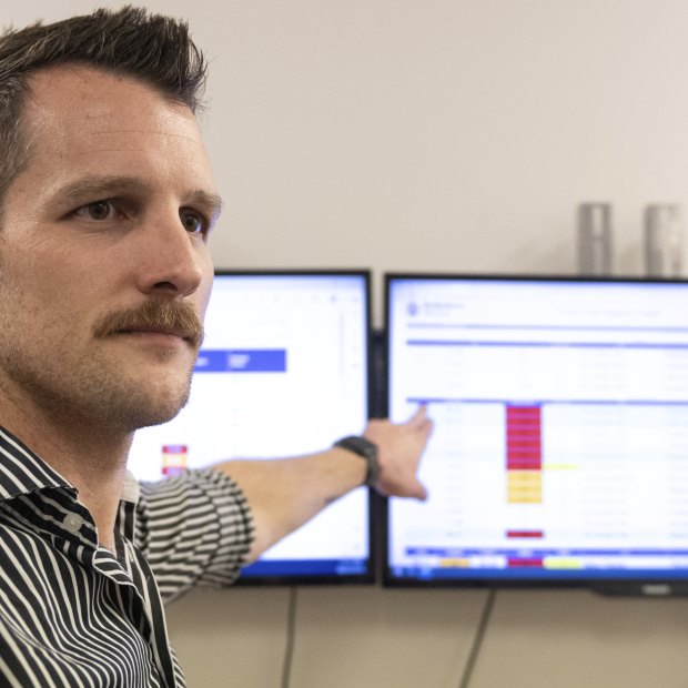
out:
<path id="1" fill-rule="evenodd" d="M 0 409 L 164 422 L 186 399 L 212 285 L 219 200 L 196 122 L 89 68 L 30 85 L 30 161 L 0 226 Z"/>

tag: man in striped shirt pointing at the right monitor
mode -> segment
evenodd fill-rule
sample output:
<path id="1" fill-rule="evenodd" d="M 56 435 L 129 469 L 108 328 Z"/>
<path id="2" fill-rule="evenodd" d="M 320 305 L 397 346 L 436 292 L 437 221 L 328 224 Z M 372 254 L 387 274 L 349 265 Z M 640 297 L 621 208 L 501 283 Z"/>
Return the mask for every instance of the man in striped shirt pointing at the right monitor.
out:
<path id="1" fill-rule="evenodd" d="M 127 473 L 133 433 L 184 404 L 202 338 L 221 208 L 204 71 L 183 24 L 131 8 L 0 39 L 1 685 L 183 686 L 162 599 L 231 583 L 366 480 L 425 495 L 423 411 L 368 424 L 363 452 L 141 494 Z"/>

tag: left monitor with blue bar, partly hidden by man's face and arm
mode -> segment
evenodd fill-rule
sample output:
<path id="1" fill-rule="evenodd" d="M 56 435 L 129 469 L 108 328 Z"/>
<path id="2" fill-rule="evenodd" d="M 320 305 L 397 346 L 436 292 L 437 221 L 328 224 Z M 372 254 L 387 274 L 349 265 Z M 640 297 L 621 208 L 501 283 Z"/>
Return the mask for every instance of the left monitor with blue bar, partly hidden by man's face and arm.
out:
<path id="1" fill-rule="evenodd" d="M 136 433 L 130 471 L 158 480 L 361 434 L 368 311 L 364 271 L 217 272 L 190 401 L 171 422 Z M 354 490 L 247 566 L 240 583 L 371 580 L 368 514 L 368 490 Z"/>

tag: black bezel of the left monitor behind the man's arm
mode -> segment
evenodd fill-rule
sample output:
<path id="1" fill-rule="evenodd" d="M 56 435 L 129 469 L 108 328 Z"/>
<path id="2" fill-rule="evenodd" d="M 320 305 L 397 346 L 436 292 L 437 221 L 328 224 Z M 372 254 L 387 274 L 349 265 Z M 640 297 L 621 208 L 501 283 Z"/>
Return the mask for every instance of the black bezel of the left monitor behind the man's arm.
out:
<path id="1" fill-rule="evenodd" d="M 373 371 L 372 371 L 372 271 L 370 269 L 215 269 L 214 277 L 361 277 L 364 282 L 364 296 L 365 296 L 365 340 L 366 340 L 366 416 L 370 417 L 371 408 L 374 404 L 374 391 L 373 391 Z M 266 419 L 269 423 L 269 419 Z M 363 429 L 363 428 L 362 428 Z M 338 437 L 333 437 L 333 442 Z M 323 447 L 325 448 L 325 447 Z M 368 529 L 368 559 L 365 571 L 360 574 L 256 574 L 252 576 L 243 576 L 240 574 L 235 581 L 236 586 L 245 587 L 260 587 L 260 586 L 302 586 L 302 585 L 371 585 L 375 583 L 377 577 L 376 557 L 374 547 L 374 524 L 373 524 L 373 510 L 374 510 L 374 497 L 372 490 L 368 489 L 367 498 L 367 529 Z M 259 558 L 260 560 L 260 558 Z"/>

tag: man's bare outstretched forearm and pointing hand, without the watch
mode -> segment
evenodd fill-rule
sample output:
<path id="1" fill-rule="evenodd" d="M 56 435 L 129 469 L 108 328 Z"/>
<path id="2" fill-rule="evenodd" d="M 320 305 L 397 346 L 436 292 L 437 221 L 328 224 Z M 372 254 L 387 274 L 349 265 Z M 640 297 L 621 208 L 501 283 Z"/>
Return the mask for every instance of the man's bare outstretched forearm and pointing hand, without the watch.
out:
<path id="1" fill-rule="evenodd" d="M 424 407 L 406 423 L 371 421 L 364 436 L 377 445 L 383 495 L 425 499 L 416 474 L 432 431 Z M 230 461 L 213 466 L 243 489 L 253 512 L 255 542 L 249 560 L 313 518 L 328 504 L 365 479 L 367 464 L 350 449 L 332 447 L 317 454 L 277 461 Z"/>

